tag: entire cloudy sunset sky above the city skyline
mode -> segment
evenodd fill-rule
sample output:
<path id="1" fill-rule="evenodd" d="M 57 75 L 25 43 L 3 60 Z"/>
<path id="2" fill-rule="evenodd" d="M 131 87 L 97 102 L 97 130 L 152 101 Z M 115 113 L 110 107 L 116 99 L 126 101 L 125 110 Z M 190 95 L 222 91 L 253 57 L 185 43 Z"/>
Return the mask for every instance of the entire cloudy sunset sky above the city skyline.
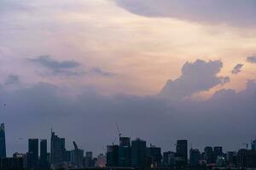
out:
<path id="1" fill-rule="evenodd" d="M 67 149 L 121 133 L 174 150 L 238 150 L 256 136 L 255 0 L 1 0 L 0 122 Z M 6 104 L 4 106 L 3 104 Z"/>

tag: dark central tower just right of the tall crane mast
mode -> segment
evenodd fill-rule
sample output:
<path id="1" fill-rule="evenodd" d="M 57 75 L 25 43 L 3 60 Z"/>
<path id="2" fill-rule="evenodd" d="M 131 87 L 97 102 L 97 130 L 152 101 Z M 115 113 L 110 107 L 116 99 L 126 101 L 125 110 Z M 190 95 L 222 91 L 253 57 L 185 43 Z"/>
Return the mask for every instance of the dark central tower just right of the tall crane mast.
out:
<path id="1" fill-rule="evenodd" d="M 119 138 L 119 167 L 131 167 L 131 143 L 130 138 Z"/>

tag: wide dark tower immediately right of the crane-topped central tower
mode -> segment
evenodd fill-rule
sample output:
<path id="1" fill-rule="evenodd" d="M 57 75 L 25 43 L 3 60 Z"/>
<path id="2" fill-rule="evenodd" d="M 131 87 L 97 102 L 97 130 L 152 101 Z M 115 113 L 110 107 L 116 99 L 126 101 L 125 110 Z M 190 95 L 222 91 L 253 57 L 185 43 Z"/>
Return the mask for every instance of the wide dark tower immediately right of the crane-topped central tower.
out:
<path id="1" fill-rule="evenodd" d="M 142 139 L 131 141 L 131 166 L 145 169 L 147 165 L 147 144 Z"/>

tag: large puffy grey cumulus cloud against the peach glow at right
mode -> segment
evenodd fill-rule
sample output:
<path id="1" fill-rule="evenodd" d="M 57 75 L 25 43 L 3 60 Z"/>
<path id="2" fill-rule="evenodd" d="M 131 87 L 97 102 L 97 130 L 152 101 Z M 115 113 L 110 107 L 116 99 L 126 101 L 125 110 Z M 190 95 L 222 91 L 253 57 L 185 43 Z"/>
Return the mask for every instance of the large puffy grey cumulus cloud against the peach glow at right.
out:
<path id="1" fill-rule="evenodd" d="M 222 67 L 223 64 L 220 60 L 207 62 L 197 59 L 194 63 L 187 62 L 183 65 L 182 75 L 174 81 L 167 81 L 160 96 L 169 99 L 183 99 L 191 94 L 230 82 L 229 77 L 217 76 Z"/>

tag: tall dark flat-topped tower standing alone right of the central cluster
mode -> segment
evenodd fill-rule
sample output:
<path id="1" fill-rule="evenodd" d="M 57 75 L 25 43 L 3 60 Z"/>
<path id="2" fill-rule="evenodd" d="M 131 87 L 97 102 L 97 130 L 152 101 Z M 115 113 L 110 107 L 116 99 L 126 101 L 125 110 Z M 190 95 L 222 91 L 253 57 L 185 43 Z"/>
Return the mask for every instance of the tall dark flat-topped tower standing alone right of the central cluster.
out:
<path id="1" fill-rule="evenodd" d="M 177 165 L 185 166 L 188 163 L 188 140 L 177 140 L 176 144 Z"/>

